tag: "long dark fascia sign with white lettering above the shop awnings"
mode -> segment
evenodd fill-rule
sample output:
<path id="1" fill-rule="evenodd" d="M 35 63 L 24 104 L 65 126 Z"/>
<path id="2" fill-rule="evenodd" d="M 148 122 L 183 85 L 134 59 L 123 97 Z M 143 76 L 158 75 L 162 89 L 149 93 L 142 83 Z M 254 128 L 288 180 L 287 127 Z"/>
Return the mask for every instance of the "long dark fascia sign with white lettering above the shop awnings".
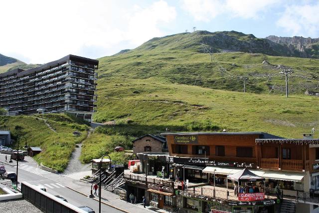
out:
<path id="1" fill-rule="evenodd" d="M 204 158 L 179 158 L 179 157 L 166 157 L 167 163 L 198 165 L 198 166 L 217 166 L 217 167 L 232 167 L 232 168 L 251 168 L 256 169 L 254 164 L 237 163 L 237 162 L 219 162 L 207 160 Z"/>

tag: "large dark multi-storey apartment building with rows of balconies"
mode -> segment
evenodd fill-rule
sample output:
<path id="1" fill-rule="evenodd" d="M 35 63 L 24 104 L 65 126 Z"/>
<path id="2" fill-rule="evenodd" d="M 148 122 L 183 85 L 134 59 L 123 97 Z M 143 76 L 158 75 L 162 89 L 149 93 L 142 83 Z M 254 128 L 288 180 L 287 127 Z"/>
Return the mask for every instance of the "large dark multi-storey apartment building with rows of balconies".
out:
<path id="1" fill-rule="evenodd" d="M 67 55 L 39 67 L 0 74 L 0 108 L 9 115 L 69 112 L 91 122 L 98 60 Z"/>

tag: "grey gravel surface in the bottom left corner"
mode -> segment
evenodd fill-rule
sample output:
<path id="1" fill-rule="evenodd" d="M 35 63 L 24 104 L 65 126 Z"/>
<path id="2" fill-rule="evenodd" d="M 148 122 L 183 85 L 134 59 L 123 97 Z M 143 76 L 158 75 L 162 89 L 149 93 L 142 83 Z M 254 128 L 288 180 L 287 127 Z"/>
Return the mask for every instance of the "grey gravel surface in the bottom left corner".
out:
<path id="1" fill-rule="evenodd" d="M 23 199 L 0 201 L 0 213 L 42 213 L 38 208 Z"/>

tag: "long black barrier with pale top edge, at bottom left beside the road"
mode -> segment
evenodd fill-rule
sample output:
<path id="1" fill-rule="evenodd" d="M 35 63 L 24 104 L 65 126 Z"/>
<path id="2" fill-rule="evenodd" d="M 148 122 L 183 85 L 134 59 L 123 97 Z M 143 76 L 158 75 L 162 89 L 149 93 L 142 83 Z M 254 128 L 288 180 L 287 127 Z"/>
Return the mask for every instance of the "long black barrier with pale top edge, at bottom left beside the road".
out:
<path id="1" fill-rule="evenodd" d="M 44 213 L 85 213 L 85 211 L 72 204 L 66 203 L 30 184 L 22 182 L 21 193 L 25 200 Z"/>

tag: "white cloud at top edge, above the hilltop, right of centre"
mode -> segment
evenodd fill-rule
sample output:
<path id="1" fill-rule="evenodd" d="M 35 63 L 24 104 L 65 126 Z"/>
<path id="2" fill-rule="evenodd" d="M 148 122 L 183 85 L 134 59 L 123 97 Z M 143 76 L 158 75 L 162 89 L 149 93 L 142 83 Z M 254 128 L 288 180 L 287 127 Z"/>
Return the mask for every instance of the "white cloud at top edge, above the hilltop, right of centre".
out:
<path id="1" fill-rule="evenodd" d="M 260 18 L 278 0 L 183 0 L 182 7 L 196 20 L 210 21 L 217 15 Z"/>

